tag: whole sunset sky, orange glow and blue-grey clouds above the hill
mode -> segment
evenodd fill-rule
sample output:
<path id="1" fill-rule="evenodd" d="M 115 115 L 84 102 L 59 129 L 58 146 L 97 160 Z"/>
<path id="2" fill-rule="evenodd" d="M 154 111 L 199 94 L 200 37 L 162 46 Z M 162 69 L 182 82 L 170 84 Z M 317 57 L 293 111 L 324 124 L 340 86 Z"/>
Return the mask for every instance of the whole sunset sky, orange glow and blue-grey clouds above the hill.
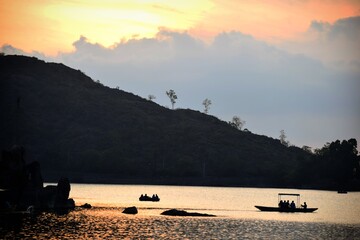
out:
<path id="1" fill-rule="evenodd" d="M 360 141 L 358 0 L 0 0 L 0 47 L 297 146 Z"/>

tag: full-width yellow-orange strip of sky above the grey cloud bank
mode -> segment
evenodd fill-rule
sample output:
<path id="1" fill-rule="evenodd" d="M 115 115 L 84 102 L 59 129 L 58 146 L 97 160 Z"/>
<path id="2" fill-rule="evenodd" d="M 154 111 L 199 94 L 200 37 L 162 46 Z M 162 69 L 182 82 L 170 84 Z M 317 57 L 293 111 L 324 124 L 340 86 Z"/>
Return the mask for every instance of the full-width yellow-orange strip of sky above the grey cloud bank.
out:
<path id="1" fill-rule="evenodd" d="M 359 14 L 357 0 L 0 0 L 0 46 L 55 55 L 71 51 L 80 35 L 108 47 L 153 37 L 159 27 L 208 41 L 235 30 L 281 42 L 306 31 L 312 20 L 332 23 Z"/>

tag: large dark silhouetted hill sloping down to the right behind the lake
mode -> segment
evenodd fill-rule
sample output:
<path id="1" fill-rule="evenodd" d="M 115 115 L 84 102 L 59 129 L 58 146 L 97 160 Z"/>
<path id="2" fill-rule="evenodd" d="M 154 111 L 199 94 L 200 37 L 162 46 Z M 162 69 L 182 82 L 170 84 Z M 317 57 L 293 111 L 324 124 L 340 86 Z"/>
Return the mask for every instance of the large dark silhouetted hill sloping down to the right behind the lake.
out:
<path id="1" fill-rule="evenodd" d="M 193 110 L 170 110 L 80 70 L 0 56 L 1 149 L 45 181 L 311 187 L 312 154 Z"/>

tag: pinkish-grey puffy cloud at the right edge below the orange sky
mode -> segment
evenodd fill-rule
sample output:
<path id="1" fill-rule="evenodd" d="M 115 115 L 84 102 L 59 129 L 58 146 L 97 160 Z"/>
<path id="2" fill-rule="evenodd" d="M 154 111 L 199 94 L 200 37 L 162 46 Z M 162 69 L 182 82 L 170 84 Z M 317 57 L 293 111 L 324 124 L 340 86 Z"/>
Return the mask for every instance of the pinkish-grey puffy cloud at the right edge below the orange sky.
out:
<path id="1" fill-rule="evenodd" d="M 360 72 L 360 16 L 334 24 L 313 21 L 302 37 L 306 41 L 287 42 L 281 47 L 316 58 L 331 68 Z"/>

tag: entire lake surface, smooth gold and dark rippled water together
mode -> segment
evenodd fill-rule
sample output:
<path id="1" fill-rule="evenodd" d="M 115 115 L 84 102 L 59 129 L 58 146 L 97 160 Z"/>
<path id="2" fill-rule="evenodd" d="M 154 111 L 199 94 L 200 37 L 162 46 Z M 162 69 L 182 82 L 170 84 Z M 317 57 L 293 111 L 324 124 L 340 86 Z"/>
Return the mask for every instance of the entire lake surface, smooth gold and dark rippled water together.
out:
<path id="1" fill-rule="evenodd" d="M 0 238 L 53 239 L 360 239 L 360 193 L 258 188 L 72 184 L 77 208 L 66 215 L 42 213 L 12 227 Z M 279 192 L 300 193 L 315 213 L 267 213 L 254 205 L 275 206 Z M 160 202 L 140 202 L 156 193 Z M 289 200 L 292 199 L 289 197 Z M 122 214 L 136 206 L 135 216 Z M 171 209 L 216 217 L 170 217 Z"/>

